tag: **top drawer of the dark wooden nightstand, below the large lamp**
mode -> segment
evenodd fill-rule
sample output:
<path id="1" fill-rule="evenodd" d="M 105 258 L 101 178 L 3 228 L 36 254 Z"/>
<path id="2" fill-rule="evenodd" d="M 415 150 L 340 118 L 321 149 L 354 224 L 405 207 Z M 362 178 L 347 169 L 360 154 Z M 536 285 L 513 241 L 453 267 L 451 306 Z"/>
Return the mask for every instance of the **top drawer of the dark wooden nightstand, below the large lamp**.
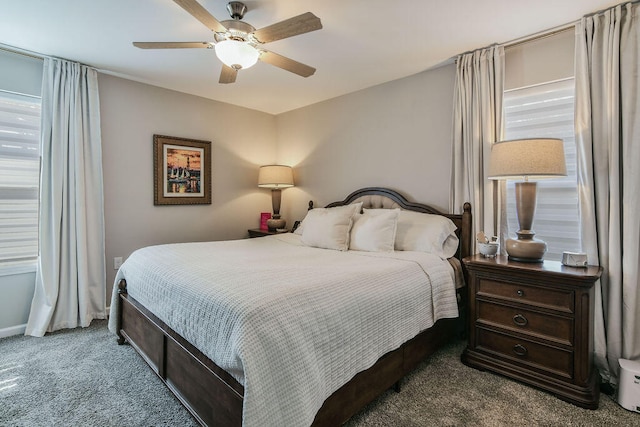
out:
<path id="1" fill-rule="evenodd" d="M 498 282 L 489 279 L 478 281 L 478 296 L 488 296 L 537 307 L 551 308 L 573 313 L 574 295 L 571 291 L 538 288 L 513 282 Z"/>

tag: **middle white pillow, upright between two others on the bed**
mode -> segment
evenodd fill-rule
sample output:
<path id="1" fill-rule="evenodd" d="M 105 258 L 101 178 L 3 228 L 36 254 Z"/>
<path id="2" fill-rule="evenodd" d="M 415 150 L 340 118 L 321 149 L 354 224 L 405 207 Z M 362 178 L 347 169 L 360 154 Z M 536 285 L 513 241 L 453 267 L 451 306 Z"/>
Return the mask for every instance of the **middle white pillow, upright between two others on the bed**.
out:
<path id="1" fill-rule="evenodd" d="M 393 252 L 400 209 L 365 209 L 351 227 L 349 249 Z"/>

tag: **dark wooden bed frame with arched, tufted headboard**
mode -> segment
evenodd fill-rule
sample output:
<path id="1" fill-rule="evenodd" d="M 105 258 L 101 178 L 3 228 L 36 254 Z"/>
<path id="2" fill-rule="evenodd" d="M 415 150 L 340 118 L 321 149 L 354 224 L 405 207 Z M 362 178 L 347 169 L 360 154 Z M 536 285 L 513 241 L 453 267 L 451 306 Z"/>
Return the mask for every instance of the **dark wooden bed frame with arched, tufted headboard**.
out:
<path id="1" fill-rule="evenodd" d="M 444 214 L 428 205 L 409 202 L 394 190 L 369 187 L 354 191 L 343 201 L 327 207 L 360 200 L 365 201 L 365 208 L 400 207 L 444 215 L 458 227 L 460 245 L 456 257 L 462 259 L 470 255 L 469 203 L 465 203 L 462 214 Z M 117 312 L 118 344 L 131 344 L 200 424 L 241 426 L 243 386 L 128 296 L 124 280 L 119 282 L 118 292 L 121 300 Z M 358 373 L 325 400 L 313 425 L 341 425 L 389 388 L 395 387 L 399 391 L 400 380 L 456 334 L 457 320 L 437 321 L 430 329 L 382 356 L 371 368 Z"/>

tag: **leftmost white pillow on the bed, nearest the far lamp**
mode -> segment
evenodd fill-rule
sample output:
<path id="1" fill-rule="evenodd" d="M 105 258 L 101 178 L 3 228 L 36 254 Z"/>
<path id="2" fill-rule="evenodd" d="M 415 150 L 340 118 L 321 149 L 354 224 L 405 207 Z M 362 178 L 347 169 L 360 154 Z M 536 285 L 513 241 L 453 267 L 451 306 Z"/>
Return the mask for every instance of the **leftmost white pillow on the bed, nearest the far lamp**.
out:
<path id="1" fill-rule="evenodd" d="M 353 217 L 359 214 L 361 209 L 362 203 L 311 209 L 304 218 L 300 240 L 307 246 L 348 250 Z"/>

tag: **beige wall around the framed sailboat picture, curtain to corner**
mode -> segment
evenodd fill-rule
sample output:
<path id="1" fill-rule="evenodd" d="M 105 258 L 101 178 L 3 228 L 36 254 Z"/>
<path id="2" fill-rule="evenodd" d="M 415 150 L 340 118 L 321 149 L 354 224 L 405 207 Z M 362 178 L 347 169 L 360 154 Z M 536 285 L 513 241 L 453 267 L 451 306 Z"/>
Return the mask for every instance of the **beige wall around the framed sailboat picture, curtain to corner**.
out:
<path id="1" fill-rule="evenodd" d="M 257 187 L 258 166 L 276 161 L 276 120 L 113 76 L 101 74 L 98 83 L 109 298 L 116 256 L 153 244 L 244 238 L 259 225 L 271 199 Z M 154 206 L 153 134 L 211 141 L 211 205 Z"/>

